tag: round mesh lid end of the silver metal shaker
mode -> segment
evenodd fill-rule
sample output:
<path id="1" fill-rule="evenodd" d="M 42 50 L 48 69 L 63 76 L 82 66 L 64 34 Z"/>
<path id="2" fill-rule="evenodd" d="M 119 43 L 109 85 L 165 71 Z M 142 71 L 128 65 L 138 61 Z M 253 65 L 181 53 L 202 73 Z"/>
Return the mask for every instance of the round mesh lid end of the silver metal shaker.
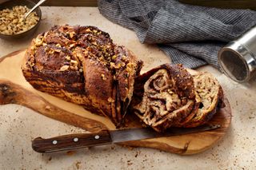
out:
<path id="1" fill-rule="evenodd" d="M 224 73 L 234 81 L 249 81 L 256 71 L 254 53 L 244 45 L 230 42 L 218 52 L 218 62 Z"/>

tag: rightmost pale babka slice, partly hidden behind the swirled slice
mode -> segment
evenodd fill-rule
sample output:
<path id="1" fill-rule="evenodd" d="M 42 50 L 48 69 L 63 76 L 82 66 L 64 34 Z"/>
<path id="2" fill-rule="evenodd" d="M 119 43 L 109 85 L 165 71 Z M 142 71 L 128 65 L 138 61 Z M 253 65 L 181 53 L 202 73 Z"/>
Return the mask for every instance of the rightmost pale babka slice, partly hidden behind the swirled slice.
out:
<path id="1" fill-rule="evenodd" d="M 223 91 L 217 79 L 210 73 L 199 72 L 193 75 L 194 90 L 200 104 L 194 117 L 183 127 L 196 127 L 206 124 L 214 116 L 217 109 L 224 107 Z"/>

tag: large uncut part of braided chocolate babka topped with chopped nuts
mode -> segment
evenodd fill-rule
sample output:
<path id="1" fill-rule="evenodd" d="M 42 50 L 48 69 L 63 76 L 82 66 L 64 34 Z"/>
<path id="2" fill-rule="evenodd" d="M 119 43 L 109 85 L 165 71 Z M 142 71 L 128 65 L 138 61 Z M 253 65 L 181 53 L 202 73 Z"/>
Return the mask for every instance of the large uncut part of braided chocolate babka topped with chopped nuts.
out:
<path id="1" fill-rule="evenodd" d="M 22 72 L 35 89 L 122 125 L 142 61 L 94 26 L 54 26 L 26 51 Z"/>

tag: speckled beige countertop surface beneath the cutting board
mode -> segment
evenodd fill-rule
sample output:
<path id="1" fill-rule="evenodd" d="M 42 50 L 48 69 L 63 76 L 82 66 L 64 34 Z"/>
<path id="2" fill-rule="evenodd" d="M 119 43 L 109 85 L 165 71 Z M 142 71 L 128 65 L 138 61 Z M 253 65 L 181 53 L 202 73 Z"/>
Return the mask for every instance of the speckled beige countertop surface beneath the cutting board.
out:
<path id="1" fill-rule="evenodd" d="M 37 33 L 54 25 L 92 25 L 110 33 L 118 44 L 126 45 L 142 60 L 144 70 L 170 62 L 154 45 L 142 45 L 134 32 L 109 22 L 97 8 L 42 7 L 42 23 Z M 35 35 L 36 35 L 35 34 Z M 7 42 L 0 39 L 0 56 L 26 48 L 30 39 Z M 125 148 L 116 144 L 84 148 L 76 152 L 40 154 L 31 148 L 34 137 L 50 137 L 82 129 L 51 120 L 20 105 L 0 106 L 0 169 L 256 169 L 256 83 L 239 85 L 216 69 L 232 108 L 232 122 L 226 136 L 213 148 L 193 156 L 178 156 L 150 148 Z"/>

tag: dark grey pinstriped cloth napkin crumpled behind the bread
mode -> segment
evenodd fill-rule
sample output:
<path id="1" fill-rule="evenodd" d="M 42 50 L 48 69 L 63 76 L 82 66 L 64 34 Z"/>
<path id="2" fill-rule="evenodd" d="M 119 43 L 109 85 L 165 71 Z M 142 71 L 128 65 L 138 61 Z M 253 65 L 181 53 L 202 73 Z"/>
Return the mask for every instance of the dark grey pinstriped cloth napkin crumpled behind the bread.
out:
<path id="1" fill-rule="evenodd" d="M 218 50 L 256 25 L 256 11 L 191 6 L 175 0 L 98 0 L 100 13 L 157 44 L 174 64 L 219 69 Z"/>

